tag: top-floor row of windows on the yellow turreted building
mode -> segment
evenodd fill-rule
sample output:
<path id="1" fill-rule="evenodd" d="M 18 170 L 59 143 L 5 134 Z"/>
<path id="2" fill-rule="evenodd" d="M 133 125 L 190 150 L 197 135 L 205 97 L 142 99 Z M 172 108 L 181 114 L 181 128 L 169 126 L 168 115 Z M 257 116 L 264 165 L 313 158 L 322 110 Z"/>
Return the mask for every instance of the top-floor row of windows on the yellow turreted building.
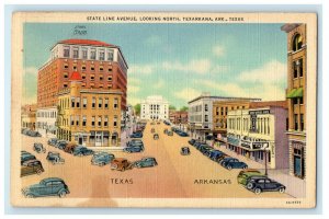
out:
<path id="1" fill-rule="evenodd" d="M 70 107 L 71 108 L 80 108 L 80 106 L 82 106 L 82 108 L 87 108 L 88 107 L 88 99 L 87 97 L 82 97 L 82 102 L 80 105 L 81 99 L 79 96 L 71 96 L 70 99 Z M 60 108 L 68 108 L 69 107 L 69 99 L 61 99 L 59 101 L 59 106 Z M 109 108 L 110 107 L 110 100 L 109 97 L 92 97 L 91 99 L 91 108 Z M 113 100 L 113 108 L 118 108 L 118 99 L 115 97 Z"/>

